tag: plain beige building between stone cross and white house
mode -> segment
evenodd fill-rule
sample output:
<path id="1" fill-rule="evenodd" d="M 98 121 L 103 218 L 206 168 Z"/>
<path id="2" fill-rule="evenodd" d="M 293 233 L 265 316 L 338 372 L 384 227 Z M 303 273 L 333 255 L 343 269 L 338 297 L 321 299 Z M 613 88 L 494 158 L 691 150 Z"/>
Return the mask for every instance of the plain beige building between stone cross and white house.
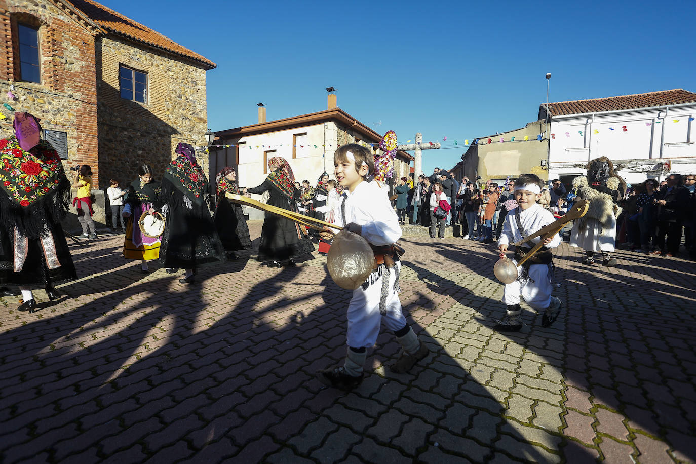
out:
<path id="1" fill-rule="evenodd" d="M 472 143 L 461 155 L 462 163 L 457 164 L 457 172 L 472 181 L 480 175 L 484 181 L 491 179 L 498 184 L 508 176 L 519 177 L 525 173 L 546 180 L 548 140 L 542 137 L 539 141 L 539 135 L 543 133 L 544 122 L 535 121 L 520 129 L 477 138 L 477 143 Z"/>

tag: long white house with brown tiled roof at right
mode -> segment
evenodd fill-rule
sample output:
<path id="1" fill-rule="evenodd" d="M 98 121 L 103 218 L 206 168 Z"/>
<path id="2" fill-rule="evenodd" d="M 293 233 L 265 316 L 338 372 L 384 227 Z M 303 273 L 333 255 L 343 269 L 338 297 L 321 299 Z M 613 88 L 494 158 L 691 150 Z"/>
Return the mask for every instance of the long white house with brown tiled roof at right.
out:
<path id="1" fill-rule="evenodd" d="M 590 159 L 622 166 L 629 184 L 696 172 L 696 93 L 683 89 L 548 104 L 548 178 L 569 185 Z M 546 120 L 546 104 L 539 107 Z"/>

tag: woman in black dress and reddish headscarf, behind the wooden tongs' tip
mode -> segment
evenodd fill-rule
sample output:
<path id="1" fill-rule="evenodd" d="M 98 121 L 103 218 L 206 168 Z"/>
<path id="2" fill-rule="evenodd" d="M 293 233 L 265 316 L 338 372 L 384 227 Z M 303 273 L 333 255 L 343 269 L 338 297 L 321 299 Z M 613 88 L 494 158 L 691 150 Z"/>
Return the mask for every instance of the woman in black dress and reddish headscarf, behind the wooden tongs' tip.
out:
<path id="1" fill-rule="evenodd" d="M 216 177 L 216 183 L 217 208 L 213 223 L 227 253 L 227 259 L 238 259 L 235 251 L 251 248 L 251 237 L 249 237 L 249 228 L 244 219 L 242 205 L 230 202 L 225 193 L 244 195 L 244 192 L 237 186 L 235 168 L 229 166 L 220 171 Z"/>

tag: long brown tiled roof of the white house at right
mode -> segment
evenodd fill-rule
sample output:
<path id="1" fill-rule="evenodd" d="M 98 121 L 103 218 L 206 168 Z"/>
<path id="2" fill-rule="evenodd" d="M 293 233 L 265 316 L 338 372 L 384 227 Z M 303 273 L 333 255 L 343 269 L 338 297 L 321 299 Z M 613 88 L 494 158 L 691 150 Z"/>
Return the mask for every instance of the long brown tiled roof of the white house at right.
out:
<path id="1" fill-rule="evenodd" d="M 601 113 L 603 111 L 651 108 L 654 106 L 694 102 L 696 102 L 696 93 L 689 92 L 683 88 L 676 88 L 674 90 L 622 95 L 620 97 L 549 103 L 548 113 L 553 117 L 582 113 Z M 539 119 L 541 120 L 544 118 L 546 118 L 546 104 L 541 104 L 539 105 Z"/>

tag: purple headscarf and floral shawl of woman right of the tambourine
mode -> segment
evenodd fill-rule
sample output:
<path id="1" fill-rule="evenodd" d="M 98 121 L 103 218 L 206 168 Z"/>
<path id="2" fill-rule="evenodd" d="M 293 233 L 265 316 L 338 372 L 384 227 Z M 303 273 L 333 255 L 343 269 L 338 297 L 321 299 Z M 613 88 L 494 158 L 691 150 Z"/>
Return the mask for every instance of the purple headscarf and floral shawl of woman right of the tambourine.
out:
<path id="1" fill-rule="evenodd" d="M 191 202 L 203 203 L 208 190 L 208 179 L 203 174 L 203 168 L 196 163 L 196 154 L 188 143 L 179 143 L 176 147 L 177 156 L 162 177 L 166 193 L 171 193 L 167 184 L 184 194 Z"/>

